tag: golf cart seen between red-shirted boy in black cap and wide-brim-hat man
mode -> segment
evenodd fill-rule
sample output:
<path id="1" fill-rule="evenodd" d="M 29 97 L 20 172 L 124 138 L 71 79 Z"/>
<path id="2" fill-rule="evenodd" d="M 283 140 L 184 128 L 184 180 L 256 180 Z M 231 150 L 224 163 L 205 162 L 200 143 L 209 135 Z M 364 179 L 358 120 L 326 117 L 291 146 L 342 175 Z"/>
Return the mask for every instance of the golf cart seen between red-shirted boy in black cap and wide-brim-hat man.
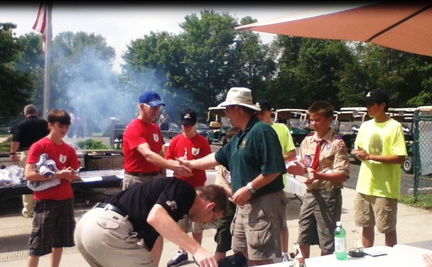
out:
<path id="1" fill-rule="evenodd" d="M 213 143 L 224 144 L 226 132 L 232 127 L 228 117 L 225 116 L 225 107 L 209 107 L 207 121 L 210 130 L 207 131 L 207 140 L 210 145 Z"/>

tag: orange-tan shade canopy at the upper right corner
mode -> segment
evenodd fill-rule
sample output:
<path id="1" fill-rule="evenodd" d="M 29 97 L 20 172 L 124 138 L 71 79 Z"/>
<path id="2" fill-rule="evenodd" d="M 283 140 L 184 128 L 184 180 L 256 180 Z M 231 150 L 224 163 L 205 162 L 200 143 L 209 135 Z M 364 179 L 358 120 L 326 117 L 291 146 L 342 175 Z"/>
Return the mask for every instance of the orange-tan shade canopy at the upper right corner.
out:
<path id="1" fill-rule="evenodd" d="M 270 21 L 239 26 L 236 30 L 371 42 L 432 56 L 432 2 L 305 8 Z"/>

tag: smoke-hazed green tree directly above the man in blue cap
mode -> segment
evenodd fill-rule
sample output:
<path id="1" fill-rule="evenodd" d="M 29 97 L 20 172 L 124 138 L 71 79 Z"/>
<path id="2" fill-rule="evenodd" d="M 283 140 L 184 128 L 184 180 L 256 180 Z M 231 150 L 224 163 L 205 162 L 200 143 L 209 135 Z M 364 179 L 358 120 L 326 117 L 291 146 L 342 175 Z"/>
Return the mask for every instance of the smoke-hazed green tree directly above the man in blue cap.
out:
<path id="1" fill-rule="evenodd" d="M 127 81 L 127 90 L 139 95 L 146 90 L 161 94 L 166 110 L 172 118 L 178 114 L 191 98 L 183 89 L 186 71 L 185 52 L 179 36 L 168 32 L 150 32 L 142 39 L 131 42 L 123 56 L 126 64 L 122 79 Z M 176 119 L 175 119 L 176 120 Z"/>

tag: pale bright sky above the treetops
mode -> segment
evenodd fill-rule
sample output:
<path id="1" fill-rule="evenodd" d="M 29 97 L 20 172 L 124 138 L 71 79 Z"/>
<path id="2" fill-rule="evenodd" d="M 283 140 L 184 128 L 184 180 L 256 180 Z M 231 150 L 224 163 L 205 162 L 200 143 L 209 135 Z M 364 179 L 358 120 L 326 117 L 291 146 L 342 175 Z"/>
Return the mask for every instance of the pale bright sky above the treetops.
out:
<path id="1" fill-rule="evenodd" d="M 39 2 L 34 4 L 13 5 L 0 3 L 0 22 L 11 22 L 17 25 L 15 33 L 21 36 L 35 32 L 32 27 L 36 20 Z M 116 51 L 114 70 L 120 70 L 124 63 L 121 56 L 132 40 L 143 38 L 150 31 L 167 31 L 179 34 L 180 23 L 187 15 L 197 14 L 208 9 L 218 13 L 228 13 L 242 19 L 251 16 L 259 22 L 286 15 L 299 9 L 295 5 L 117 5 L 117 6 L 56 6 L 52 12 L 53 38 L 60 32 L 86 32 L 101 35 Z M 274 34 L 260 33 L 263 42 L 270 42 Z"/>

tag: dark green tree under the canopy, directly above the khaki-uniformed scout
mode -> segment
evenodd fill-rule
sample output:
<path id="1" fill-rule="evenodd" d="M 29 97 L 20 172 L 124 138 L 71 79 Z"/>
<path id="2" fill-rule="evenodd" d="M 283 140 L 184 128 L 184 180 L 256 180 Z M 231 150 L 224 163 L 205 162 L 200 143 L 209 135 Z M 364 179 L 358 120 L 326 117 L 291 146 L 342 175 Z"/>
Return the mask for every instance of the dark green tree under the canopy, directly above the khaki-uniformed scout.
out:
<path id="1" fill-rule="evenodd" d="M 316 100 L 327 100 L 335 108 L 343 105 L 341 86 L 355 63 L 344 42 L 288 36 L 277 42 L 279 73 L 270 92 L 283 100 L 282 107 L 306 108 Z"/>

